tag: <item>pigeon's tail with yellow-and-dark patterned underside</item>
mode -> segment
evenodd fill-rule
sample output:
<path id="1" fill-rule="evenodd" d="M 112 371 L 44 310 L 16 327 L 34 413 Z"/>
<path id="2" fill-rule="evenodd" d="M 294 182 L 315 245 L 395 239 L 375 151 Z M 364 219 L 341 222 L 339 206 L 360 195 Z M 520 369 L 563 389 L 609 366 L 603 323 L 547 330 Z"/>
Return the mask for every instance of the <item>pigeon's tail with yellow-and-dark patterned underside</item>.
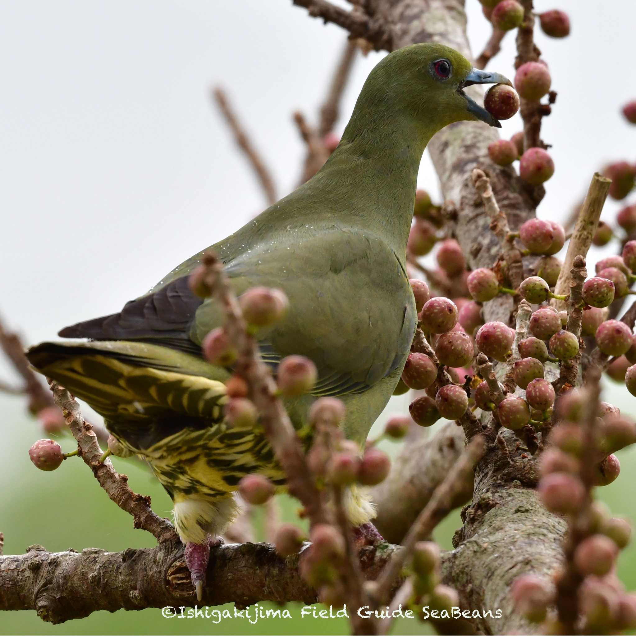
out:
<path id="1" fill-rule="evenodd" d="M 141 342 L 43 342 L 29 362 L 108 420 L 179 417 L 218 421 L 225 370 L 167 347 Z"/>

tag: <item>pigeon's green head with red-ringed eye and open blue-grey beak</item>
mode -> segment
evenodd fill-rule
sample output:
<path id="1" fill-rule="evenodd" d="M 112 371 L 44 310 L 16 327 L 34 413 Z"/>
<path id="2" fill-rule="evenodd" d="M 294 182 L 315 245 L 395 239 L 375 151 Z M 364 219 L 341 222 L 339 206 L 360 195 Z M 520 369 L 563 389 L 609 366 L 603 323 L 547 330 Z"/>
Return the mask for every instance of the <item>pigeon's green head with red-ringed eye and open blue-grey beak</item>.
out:
<path id="1" fill-rule="evenodd" d="M 371 71 L 356 109 L 406 118 L 429 136 L 462 120 L 499 121 L 466 95 L 473 84 L 508 84 L 499 73 L 474 69 L 460 53 L 434 43 L 405 46 L 389 53 Z"/>

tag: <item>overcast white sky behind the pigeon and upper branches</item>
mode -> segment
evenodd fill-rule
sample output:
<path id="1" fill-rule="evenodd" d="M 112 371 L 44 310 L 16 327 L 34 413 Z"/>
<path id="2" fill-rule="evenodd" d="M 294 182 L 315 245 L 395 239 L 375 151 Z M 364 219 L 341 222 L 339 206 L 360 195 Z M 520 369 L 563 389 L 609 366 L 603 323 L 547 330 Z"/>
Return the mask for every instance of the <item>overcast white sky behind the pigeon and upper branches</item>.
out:
<path id="1" fill-rule="evenodd" d="M 539 216 L 560 219 L 602 163 L 636 159 L 636 127 L 619 114 L 636 98 L 636 3 L 555 4 L 570 13 L 572 35 L 537 36 L 558 91 L 544 124 L 556 174 Z M 477 0 L 467 9 L 478 52 L 489 25 Z M 344 37 L 291 0 L 1 2 L 3 319 L 31 343 L 119 310 L 265 207 L 211 106 L 213 84 L 286 194 L 303 156 L 291 113 L 315 120 Z M 508 40 L 491 67 L 512 77 Z M 358 60 L 339 130 L 379 59 Z M 519 128 L 514 118 L 503 134 Z M 426 156 L 420 182 L 437 190 Z"/>

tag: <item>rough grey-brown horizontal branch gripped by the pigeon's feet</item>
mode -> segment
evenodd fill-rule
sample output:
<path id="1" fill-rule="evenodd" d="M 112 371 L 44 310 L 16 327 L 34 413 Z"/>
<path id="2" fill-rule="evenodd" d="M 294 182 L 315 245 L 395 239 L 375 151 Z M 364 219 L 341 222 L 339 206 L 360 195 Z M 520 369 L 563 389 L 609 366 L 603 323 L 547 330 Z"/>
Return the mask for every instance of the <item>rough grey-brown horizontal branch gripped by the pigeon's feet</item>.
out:
<path id="1" fill-rule="evenodd" d="M 364 576 L 375 579 L 399 546 L 361 550 Z M 211 551 L 208 584 L 199 605 L 316 602 L 303 581 L 302 556 L 280 558 L 268 543 L 219 546 Z M 0 556 L 0 610 L 34 609 L 50 623 L 83 618 L 98 610 L 193 607 L 197 599 L 179 541 L 156 548 L 106 552 L 87 548 L 52 553 L 31 546 L 24 555 Z"/>

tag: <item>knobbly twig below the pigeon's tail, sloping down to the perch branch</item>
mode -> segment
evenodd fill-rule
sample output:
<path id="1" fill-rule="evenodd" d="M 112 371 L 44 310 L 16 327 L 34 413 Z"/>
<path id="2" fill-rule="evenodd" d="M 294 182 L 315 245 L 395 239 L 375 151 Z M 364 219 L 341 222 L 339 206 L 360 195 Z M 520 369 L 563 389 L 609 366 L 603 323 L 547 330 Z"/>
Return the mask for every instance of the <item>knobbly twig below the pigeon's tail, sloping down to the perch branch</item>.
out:
<path id="1" fill-rule="evenodd" d="M 174 541 L 177 534 L 172 523 L 153 513 L 150 508 L 150 497 L 137 495 L 128 486 L 128 477 L 117 473 L 111 460 L 102 462 L 102 449 L 93 431 L 93 427 L 86 422 L 79 410 L 76 399 L 60 384 L 51 381 L 50 389 L 53 393 L 53 401 L 62 409 L 66 423 L 78 443 L 78 450 L 86 466 L 92 471 L 99 485 L 104 488 L 106 494 L 123 511 L 132 515 L 135 528 L 148 530 L 158 543 Z"/>

